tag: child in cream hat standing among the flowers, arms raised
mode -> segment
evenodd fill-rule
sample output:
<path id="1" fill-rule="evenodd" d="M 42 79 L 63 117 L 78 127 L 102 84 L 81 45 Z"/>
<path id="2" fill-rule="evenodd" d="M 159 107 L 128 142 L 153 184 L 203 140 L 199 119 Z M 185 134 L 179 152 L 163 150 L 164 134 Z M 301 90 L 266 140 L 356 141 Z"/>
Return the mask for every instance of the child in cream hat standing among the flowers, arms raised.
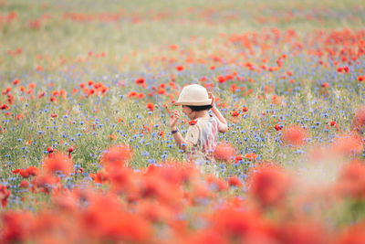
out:
<path id="1" fill-rule="evenodd" d="M 215 107 L 213 93 L 198 84 L 185 86 L 174 105 L 183 105 L 183 113 L 190 120 L 188 132 L 183 138 L 176 127 L 179 111 L 172 111 L 170 128 L 179 148 L 187 152 L 190 159 L 212 159 L 217 133 L 228 130 L 224 116 Z M 208 113 L 209 110 L 212 115 Z"/>

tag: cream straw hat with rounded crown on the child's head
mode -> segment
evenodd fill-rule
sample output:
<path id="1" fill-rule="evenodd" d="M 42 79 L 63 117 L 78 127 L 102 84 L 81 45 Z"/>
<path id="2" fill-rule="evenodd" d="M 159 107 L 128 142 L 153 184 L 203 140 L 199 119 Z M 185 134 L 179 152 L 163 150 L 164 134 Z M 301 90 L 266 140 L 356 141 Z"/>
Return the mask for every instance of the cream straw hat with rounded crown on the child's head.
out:
<path id="1" fill-rule="evenodd" d="M 204 106 L 211 105 L 212 99 L 208 96 L 208 91 L 201 85 L 193 84 L 185 86 L 179 95 L 178 101 L 174 105 Z"/>

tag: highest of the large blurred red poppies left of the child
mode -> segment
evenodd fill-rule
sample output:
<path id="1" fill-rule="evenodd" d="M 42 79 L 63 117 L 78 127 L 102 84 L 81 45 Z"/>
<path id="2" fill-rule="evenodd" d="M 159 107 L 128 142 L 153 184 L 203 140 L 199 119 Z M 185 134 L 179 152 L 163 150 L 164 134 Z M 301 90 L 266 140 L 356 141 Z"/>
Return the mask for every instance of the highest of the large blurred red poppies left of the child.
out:
<path id="1" fill-rule="evenodd" d="M 113 145 L 101 155 L 101 164 L 128 164 L 132 156 L 130 146 L 118 144 Z"/>

